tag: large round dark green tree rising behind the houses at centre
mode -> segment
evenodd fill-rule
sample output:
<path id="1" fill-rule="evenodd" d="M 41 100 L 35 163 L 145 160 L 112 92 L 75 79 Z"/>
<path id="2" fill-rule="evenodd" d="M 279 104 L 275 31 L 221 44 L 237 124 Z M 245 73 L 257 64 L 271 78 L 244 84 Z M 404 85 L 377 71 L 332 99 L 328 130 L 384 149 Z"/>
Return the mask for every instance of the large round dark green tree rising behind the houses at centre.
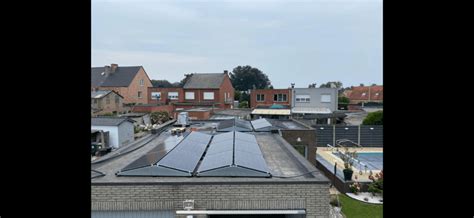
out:
<path id="1" fill-rule="evenodd" d="M 266 89 L 271 85 L 267 75 L 249 65 L 234 68 L 230 73 L 230 81 L 234 89 L 239 91 L 247 91 L 254 86 L 256 89 Z"/>

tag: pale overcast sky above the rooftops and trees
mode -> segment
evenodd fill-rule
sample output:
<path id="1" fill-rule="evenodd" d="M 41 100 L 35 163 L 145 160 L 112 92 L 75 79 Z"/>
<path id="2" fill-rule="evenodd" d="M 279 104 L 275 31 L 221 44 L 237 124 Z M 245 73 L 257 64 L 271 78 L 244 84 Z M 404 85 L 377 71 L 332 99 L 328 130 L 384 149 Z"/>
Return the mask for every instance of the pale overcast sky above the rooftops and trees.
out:
<path id="1" fill-rule="evenodd" d="M 382 0 L 92 0 L 91 49 L 170 82 L 250 65 L 275 88 L 382 84 Z"/>

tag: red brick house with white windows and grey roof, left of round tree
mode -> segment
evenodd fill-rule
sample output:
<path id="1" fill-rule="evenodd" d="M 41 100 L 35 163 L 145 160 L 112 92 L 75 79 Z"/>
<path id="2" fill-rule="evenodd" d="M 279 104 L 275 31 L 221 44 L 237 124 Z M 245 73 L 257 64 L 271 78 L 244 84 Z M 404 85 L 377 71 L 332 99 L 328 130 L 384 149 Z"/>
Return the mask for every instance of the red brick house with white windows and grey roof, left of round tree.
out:
<path id="1" fill-rule="evenodd" d="M 148 88 L 148 102 L 171 104 L 174 109 L 233 107 L 234 87 L 227 71 L 224 73 L 191 74 L 182 88 Z"/>

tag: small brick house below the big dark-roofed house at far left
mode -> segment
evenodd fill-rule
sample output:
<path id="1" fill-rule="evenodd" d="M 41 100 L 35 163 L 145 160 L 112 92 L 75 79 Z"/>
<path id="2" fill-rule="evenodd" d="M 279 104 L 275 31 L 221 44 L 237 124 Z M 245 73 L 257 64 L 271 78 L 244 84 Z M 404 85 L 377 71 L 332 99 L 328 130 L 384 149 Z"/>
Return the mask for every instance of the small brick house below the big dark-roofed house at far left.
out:
<path id="1" fill-rule="evenodd" d="M 123 111 L 123 97 L 115 91 L 91 91 L 91 114 L 120 113 Z"/>

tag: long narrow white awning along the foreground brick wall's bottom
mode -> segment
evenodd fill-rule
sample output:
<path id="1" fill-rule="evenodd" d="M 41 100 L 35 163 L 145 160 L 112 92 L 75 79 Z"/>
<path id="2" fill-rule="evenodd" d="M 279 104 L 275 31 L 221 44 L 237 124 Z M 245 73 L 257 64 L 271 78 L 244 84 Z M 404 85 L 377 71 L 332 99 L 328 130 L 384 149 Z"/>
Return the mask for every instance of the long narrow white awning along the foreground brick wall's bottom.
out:
<path id="1" fill-rule="evenodd" d="M 178 215 L 306 214 L 305 210 L 178 210 Z"/>

